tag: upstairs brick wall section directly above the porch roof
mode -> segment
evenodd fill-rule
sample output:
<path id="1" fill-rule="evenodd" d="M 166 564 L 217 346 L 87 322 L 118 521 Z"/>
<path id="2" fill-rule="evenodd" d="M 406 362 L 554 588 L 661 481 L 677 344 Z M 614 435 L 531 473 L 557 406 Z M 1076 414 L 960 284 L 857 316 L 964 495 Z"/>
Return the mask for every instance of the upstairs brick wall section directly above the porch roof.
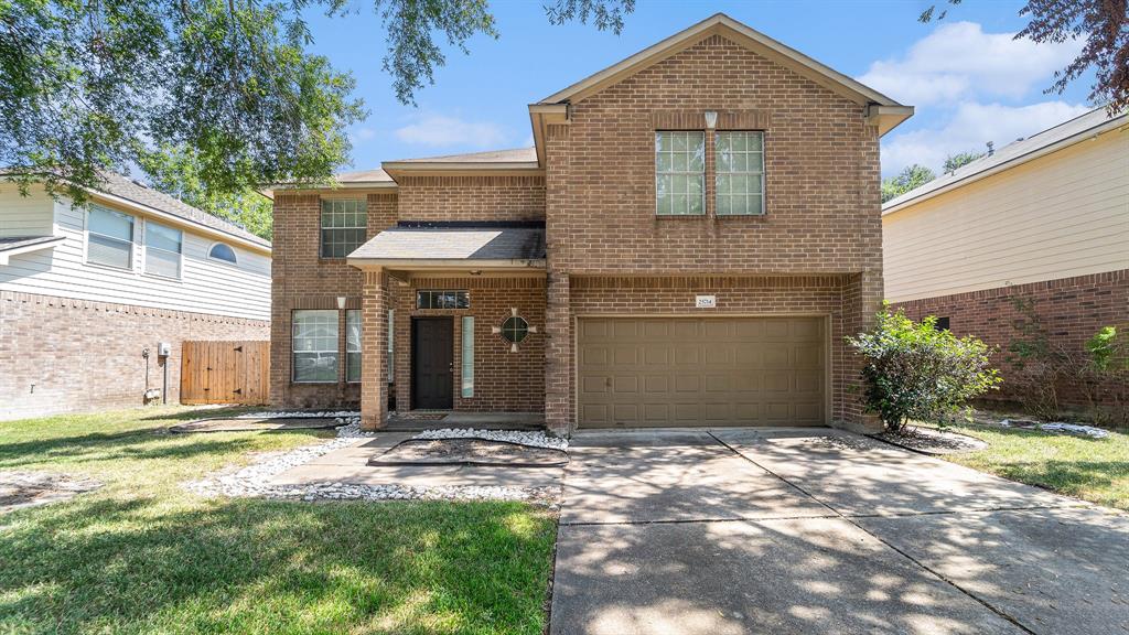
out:
<path id="1" fill-rule="evenodd" d="M 401 176 L 401 220 L 544 220 L 542 176 Z"/>

